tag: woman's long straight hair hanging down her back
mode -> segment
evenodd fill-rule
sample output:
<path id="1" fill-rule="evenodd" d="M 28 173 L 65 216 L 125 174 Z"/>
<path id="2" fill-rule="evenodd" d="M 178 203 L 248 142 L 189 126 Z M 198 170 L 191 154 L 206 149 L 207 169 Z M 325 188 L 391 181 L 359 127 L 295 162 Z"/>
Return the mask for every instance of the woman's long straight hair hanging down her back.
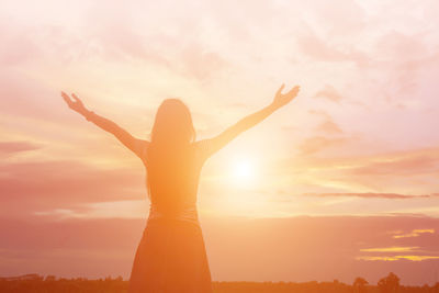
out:
<path id="1" fill-rule="evenodd" d="M 185 150 L 195 139 L 195 129 L 189 108 L 179 99 L 166 99 L 157 110 L 153 125 L 147 162 L 147 190 L 169 188 L 164 178 L 178 177 Z"/>

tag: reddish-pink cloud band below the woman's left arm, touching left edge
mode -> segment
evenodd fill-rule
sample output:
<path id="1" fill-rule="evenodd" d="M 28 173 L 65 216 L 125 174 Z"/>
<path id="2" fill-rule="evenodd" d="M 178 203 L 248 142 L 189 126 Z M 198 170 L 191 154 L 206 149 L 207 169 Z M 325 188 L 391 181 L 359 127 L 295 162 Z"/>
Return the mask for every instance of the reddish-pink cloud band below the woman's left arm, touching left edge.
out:
<path id="1" fill-rule="evenodd" d="M 0 206 L 10 216 L 76 204 L 146 199 L 145 172 L 74 160 L 0 165 Z"/>

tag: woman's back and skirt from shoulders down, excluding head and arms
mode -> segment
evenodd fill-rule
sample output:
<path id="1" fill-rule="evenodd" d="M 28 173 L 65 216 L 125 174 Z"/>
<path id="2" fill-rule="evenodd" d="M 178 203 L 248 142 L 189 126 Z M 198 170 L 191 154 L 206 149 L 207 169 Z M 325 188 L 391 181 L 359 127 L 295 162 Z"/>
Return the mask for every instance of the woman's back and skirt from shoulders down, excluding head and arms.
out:
<path id="1" fill-rule="evenodd" d="M 203 142 L 203 140 L 202 140 Z M 212 293 L 196 212 L 204 143 L 145 150 L 150 210 L 130 278 L 130 293 Z"/>

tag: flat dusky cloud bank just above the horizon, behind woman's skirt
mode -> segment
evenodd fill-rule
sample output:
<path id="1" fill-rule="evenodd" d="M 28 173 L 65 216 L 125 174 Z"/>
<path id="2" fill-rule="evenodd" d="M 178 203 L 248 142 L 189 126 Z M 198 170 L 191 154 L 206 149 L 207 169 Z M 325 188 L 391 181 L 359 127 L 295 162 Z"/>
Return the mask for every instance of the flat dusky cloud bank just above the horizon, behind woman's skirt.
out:
<path id="1" fill-rule="evenodd" d="M 201 222 L 214 280 L 352 282 L 362 275 L 376 282 L 393 271 L 404 283 L 424 284 L 423 272 L 438 263 L 437 237 L 394 239 L 386 234 L 423 226 L 437 229 L 439 219 L 431 217 L 203 216 Z M 144 228 L 145 219 L 140 218 L 1 217 L 0 235 L 7 237 L 0 243 L 0 274 L 32 270 L 69 277 L 128 278 Z M 418 247 L 429 252 L 360 251 L 375 247 Z M 395 261 L 365 261 L 360 257 L 392 257 Z"/>

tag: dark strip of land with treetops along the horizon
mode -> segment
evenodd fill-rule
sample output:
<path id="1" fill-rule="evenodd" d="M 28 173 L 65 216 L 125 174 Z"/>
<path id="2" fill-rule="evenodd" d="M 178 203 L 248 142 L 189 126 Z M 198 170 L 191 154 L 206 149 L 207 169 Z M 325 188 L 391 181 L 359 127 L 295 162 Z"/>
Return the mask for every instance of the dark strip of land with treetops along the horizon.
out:
<path id="1" fill-rule="evenodd" d="M 334 282 L 213 282 L 215 293 L 439 293 L 439 283 L 436 285 L 404 286 L 394 274 L 380 280 L 376 285 L 367 284 L 362 278 L 357 278 L 353 284 Z M 0 278 L 2 293 L 124 293 L 127 292 L 128 281 L 119 278 L 98 280 L 57 279 L 56 277 L 41 277 L 27 274 L 15 278 Z"/>

